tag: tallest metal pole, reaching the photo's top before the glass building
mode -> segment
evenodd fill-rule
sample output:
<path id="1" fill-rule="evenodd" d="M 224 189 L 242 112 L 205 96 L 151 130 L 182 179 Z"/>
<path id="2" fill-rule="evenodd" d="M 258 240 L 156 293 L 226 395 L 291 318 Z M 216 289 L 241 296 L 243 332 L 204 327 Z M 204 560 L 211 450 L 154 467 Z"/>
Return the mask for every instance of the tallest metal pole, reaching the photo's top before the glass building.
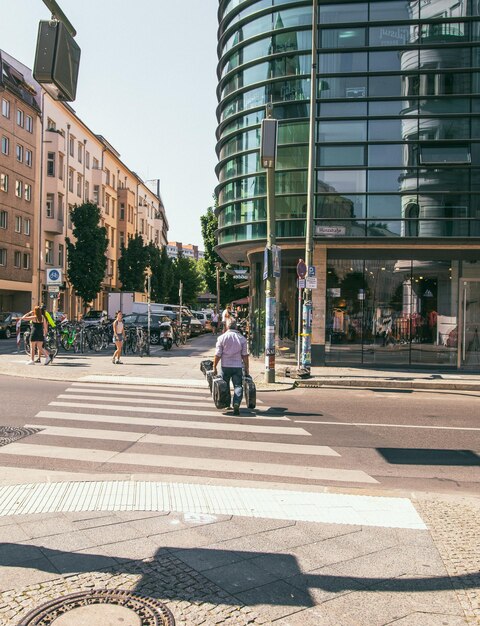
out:
<path id="1" fill-rule="evenodd" d="M 317 32 L 318 32 L 318 0 L 313 0 L 312 8 L 312 71 L 310 76 L 310 132 L 308 146 L 308 189 L 307 189 L 307 216 L 305 234 L 305 263 L 307 268 L 313 262 L 313 213 L 315 204 L 315 119 L 317 109 Z M 302 337 L 302 367 L 310 370 L 312 364 L 312 291 L 305 289 L 303 304 L 303 337 Z"/>

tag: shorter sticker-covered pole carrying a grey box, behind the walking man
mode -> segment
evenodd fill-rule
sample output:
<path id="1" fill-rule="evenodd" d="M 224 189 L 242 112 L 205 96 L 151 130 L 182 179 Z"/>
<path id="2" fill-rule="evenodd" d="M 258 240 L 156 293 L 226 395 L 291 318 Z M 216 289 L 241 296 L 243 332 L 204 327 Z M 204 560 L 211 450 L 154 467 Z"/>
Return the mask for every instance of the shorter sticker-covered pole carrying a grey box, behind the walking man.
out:
<path id="1" fill-rule="evenodd" d="M 272 105 L 267 105 L 267 119 L 272 118 Z M 267 248 L 272 258 L 272 247 L 275 245 L 275 163 L 266 167 L 267 170 Z M 270 265 L 270 264 L 269 264 Z M 265 382 L 275 382 L 275 318 L 276 318 L 276 279 L 273 271 L 268 269 L 265 282 Z"/>

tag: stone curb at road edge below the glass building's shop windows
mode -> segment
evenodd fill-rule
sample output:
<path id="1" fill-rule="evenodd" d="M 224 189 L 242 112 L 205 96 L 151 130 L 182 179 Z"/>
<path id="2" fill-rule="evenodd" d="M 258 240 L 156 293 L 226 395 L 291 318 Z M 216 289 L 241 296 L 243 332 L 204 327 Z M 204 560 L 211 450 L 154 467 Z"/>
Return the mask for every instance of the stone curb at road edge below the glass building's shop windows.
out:
<path id="1" fill-rule="evenodd" d="M 430 380 L 385 380 L 384 378 L 317 378 L 310 380 L 297 380 L 295 387 L 316 389 L 321 387 L 360 387 L 360 388 L 383 388 L 383 389 L 452 389 L 456 391 L 480 391 L 480 383 L 454 382 L 454 381 L 430 381 Z"/>

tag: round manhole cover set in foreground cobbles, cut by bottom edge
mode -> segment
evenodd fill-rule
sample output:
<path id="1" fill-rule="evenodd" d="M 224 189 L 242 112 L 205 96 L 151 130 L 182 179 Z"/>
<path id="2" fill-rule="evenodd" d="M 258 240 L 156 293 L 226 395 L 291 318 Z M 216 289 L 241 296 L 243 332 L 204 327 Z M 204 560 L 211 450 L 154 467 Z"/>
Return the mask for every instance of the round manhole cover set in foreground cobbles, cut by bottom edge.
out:
<path id="1" fill-rule="evenodd" d="M 47 602 L 18 626 L 175 626 L 159 600 L 130 591 L 83 591 Z"/>

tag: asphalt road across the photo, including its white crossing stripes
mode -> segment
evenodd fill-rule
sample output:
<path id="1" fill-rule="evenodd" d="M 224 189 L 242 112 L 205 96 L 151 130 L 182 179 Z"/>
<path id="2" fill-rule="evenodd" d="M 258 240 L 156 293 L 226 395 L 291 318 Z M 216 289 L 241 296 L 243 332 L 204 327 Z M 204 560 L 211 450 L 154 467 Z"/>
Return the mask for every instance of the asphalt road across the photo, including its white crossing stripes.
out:
<path id="1" fill-rule="evenodd" d="M 234 418 L 201 390 L 79 387 L 0 378 L 0 425 L 42 429 L 0 446 L 0 467 L 480 492 L 473 392 L 268 392 L 257 412 Z"/>

